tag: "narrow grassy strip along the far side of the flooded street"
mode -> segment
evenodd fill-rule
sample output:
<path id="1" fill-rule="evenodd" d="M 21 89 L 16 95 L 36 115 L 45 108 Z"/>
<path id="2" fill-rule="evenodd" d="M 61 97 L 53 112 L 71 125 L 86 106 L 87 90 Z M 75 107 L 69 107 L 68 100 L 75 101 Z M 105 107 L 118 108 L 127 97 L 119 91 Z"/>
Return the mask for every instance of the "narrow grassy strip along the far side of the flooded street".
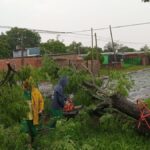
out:
<path id="1" fill-rule="evenodd" d="M 148 66 L 142 66 L 142 65 L 138 65 L 138 66 L 126 66 L 126 67 L 122 67 L 120 69 L 112 69 L 112 68 L 108 68 L 107 66 L 103 66 L 100 69 L 100 75 L 109 75 L 110 71 L 121 71 L 121 72 L 132 72 L 132 71 L 138 71 L 138 70 L 142 70 L 142 69 L 146 69 L 146 68 L 150 68 L 150 65 Z"/>

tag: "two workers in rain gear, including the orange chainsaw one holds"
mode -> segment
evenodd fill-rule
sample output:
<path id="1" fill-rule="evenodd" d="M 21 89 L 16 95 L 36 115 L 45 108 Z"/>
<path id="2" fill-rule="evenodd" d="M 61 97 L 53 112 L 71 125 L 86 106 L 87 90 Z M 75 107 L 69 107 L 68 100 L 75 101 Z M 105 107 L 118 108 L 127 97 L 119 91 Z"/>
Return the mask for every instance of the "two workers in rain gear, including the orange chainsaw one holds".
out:
<path id="1" fill-rule="evenodd" d="M 63 116 L 63 111 L 72 111 L 80 108 L 74 106 L 71 97 L 67 98 L 64 94 L 64 88 L 68 83 L 67 77 L 62 77 L 54 88 L 54 95 L 51 102 L 51 123 L 50 128 L 55 128 L 57 120 Z M 44 99 L 36 87 L 32 77 L 23 82 L 24 100 L 28 103 L 29 111 L 27 118 L 24 119 L 27 132 L 33 142 L 37 134 L 40 116 L 44 111 Z"/>

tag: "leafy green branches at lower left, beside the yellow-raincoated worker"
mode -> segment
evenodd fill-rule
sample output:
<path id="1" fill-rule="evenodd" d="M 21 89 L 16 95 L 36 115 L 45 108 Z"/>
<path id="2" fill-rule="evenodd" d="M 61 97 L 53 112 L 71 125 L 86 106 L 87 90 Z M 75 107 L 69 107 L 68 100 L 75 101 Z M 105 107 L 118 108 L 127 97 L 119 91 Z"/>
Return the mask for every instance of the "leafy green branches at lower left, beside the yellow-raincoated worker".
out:
<path id="1" fill-rule="evenodd" d="M 0 87 L 0 149 L 27 149 L 28 136 L 20 132 L 20 121 L 27 117 L 28 109 L 20 86 Z"/>

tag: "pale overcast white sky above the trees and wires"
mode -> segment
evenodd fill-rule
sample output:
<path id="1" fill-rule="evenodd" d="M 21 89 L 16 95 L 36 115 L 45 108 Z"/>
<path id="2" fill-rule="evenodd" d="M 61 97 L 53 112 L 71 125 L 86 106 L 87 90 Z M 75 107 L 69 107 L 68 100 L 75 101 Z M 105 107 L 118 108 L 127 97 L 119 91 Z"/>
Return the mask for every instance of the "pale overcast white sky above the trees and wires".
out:
<path id="1" fill-rule="evenodd" d="M 142 22 L 150 22 L 150 3 L 141 0 L 0 0 L 2 26 L 78 31 Z M 98 45 L 103 47 L 110 40 L 109 30 L 96 32 Z M 113 36 L 115 41 L 130 47 L 150 46 L 150 24 L 113 29 Z M 56 39 L 51 34 L 41 37 L 42 41 Z M 91 44 L 90 36 L 60 35 L 59 40 L 66 44 L 71 41 Z"/>

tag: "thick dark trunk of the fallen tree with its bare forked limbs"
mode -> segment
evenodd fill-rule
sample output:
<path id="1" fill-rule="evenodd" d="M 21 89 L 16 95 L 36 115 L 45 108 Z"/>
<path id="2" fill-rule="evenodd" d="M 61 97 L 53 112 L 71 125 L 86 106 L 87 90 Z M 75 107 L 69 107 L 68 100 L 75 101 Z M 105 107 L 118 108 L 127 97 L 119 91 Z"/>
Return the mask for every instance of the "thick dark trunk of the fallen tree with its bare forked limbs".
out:
<path id="1" fill-rule="evenodd" d="M 136 103 L 129 101 L 125 96 L 120 94 L 109 96 L 101 87 L 93 83 L 85 82 L 84 88 L 92 94 L 93 99 L 98 101 L 96 109 L 92 111 L 92 115 L 101 117 L 107 112 L 108 108 L 111 108 L 132 117 L 138 123 L 140 111 Z M 148 121 L 150 121 L 150 118 L 148 118 Z M 140 128 L 137 126 L 136 128 L 142 133 L 150 133 L 145 123 L 141 123 Z"/>

